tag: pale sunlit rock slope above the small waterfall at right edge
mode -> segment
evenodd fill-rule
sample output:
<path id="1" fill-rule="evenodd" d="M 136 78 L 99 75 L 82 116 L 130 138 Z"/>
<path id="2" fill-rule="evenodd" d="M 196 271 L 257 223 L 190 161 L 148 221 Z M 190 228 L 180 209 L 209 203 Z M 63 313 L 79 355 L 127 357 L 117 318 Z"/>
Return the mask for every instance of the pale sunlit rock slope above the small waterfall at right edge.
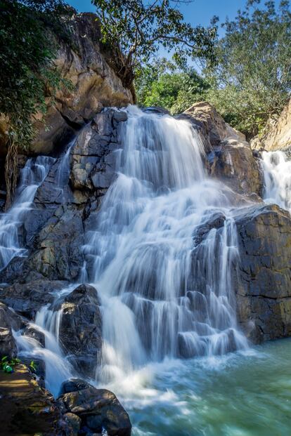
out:
<path id="1" fill-rule="evenodd" d="M 276 119 L 269 119 L 260 138 L 251 141 L 254 149 L 287 151 L 291 147 L 291 100 Z"/>

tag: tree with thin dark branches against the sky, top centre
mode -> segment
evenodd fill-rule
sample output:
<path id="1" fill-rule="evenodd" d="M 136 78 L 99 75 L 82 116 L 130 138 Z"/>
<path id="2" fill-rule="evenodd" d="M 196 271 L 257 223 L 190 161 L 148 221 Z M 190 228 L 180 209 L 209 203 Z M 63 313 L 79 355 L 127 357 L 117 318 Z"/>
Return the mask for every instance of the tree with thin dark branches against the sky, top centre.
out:
<path id="1" fill-rule="evenodd" d="M 189 57 L 213 60 L 216 27 L 192 27 L 169 0 L 93 0 L 101 22 L 103 43 L 115 47 L 115 71 L 131 88 L 138 67 L 162 46 L 179 65 Z M 174 6 L 179 1 L 174 1 Z"/>

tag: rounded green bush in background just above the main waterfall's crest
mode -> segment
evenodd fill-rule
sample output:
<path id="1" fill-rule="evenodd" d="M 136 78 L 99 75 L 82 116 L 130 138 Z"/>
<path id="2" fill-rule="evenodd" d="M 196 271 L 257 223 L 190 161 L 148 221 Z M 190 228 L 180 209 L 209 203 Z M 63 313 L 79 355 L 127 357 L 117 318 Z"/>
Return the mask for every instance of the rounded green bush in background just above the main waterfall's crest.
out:
<path id="1" fill-rule="evenodd" d="M 205 98 L 207 90 L 206 82 L 193 68 L 180 70 L 164 58 L 144 67 L 135 85 L 139 105 L 162 106 L 172 114 Z"/>

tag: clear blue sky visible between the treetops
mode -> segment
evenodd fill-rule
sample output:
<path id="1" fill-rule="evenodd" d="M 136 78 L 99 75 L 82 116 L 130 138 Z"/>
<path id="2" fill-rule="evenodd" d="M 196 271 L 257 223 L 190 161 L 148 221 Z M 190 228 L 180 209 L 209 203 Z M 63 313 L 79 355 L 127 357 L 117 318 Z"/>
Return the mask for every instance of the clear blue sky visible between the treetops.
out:
<path id="1" fill-rule="evenodd" d="M 276 4 L 280 0 L 276 0 Z M 94 12 L 95 8 L 91 0 L 67 0 L 67 3 L 79 12 Z M 191 4 L 180 5 L 181 12 L 185 21 L 191 25 L 209 25 L 213 15 L 218 15 L 221 22 L 224 22 L 226 16 L 234 18 L 238 9 L 243 8 L 246 0 L 195 0 Z"/>

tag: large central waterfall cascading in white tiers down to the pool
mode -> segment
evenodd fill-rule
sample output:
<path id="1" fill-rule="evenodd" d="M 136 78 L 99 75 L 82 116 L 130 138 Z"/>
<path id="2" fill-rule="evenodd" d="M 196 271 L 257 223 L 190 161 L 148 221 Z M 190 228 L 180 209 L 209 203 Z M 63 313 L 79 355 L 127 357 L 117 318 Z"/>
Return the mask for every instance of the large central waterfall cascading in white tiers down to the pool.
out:
<path id="1" fill-rule="evenodd" d="M 128 112 L 118 176 L 84 246 L 103 305 L 103 381 L 166 356 L 247 347 L 231 282 L 231 190 L 207 178 L 188 121 Z"/>

